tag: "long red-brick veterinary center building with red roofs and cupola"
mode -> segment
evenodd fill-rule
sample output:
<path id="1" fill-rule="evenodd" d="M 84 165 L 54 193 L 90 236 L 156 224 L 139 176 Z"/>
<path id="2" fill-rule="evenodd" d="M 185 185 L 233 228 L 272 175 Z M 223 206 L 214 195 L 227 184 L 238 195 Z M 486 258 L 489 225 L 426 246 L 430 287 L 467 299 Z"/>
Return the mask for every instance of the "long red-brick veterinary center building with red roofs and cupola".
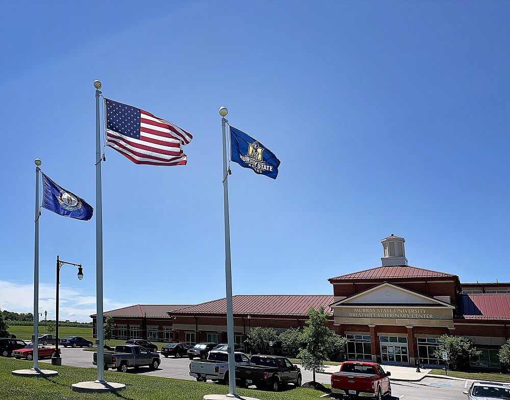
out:
<path id="1" fill-rule="evenodd" d="M 510 283 L 461 283 L 456 275 L 407 265 L 404 243 L 392 234 L 381 240 L 381 266 L 329 278 L 333 296 L 234 296 L 236 342 L 245 341 L 250 326 L 301 329 L 310 307 L 323 306 L 330 311 L 329 328 L 348 339 L 345 359 L 438 365 L 437 339 L 450 334 L 473 340 L 482 351 L 472 367 L 499 369 L 497 353 L 508 339 Z M 224 298 L 196 305 L 136 305 L 108 315 L 119 339 L 227 341 Z"/>

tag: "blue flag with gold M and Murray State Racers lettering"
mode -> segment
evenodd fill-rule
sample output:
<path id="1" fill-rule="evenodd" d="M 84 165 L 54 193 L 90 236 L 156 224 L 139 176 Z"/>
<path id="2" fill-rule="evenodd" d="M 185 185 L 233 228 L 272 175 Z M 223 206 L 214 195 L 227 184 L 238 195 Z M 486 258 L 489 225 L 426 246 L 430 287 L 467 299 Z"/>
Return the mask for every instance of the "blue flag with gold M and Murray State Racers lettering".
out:
<path id="1" fill-rule="evenodd" d="M 233 126 L 230 127 L 231 159 L 241 167 L 276 179 L 280 161 L 262 143 Z"/>

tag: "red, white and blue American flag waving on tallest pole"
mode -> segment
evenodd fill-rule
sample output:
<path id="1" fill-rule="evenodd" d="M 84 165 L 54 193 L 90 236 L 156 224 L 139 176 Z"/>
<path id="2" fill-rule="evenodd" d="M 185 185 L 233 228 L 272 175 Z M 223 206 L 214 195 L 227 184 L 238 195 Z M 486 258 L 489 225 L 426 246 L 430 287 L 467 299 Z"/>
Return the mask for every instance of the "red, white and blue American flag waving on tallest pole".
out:
<path id="1" fill-rule="evenodd" d="M 179 126 L 131 105 L 106 100 L 106 145 L 135 164 L 186 165 L 181 145 L 193 137 Z"/>

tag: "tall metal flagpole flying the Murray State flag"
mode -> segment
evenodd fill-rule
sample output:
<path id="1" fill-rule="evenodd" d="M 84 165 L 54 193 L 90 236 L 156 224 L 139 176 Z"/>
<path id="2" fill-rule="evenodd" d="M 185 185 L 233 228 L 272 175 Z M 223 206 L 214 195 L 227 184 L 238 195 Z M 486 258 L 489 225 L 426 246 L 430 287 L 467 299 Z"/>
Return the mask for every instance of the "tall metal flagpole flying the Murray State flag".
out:
<path id="1" fill-rule="evenodd" d="M 228 215 L 228 171 L 225 126 L 228 122 L 226 107 L 219 109 L 223 142 L 223 214 L 225 218 L 225 286 L 226 286 L 226 332 L 228 339 L 228 396 L 236 396 L 236 361 L 234 359 L 234 311 L 232 305 L 232 263 L 230 251 L 230 219 Z"/>

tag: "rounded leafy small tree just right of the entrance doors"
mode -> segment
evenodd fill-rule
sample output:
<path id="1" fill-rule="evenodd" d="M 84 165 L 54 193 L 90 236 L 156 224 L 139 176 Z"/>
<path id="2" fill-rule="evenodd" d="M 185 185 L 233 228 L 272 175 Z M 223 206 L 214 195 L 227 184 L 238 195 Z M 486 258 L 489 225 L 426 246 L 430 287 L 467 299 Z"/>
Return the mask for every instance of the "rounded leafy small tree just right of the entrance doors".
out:
<path id="1" fill-rule="evenodd" d="M 468 369 L 469 359 L 481 354 L 471 340 L 462 336 L 443 335 L 438 341 L 439 347 L 435 356 L 442 359 L 443 352 L 448 353 L 448 364 L 453 371 Z"/>

